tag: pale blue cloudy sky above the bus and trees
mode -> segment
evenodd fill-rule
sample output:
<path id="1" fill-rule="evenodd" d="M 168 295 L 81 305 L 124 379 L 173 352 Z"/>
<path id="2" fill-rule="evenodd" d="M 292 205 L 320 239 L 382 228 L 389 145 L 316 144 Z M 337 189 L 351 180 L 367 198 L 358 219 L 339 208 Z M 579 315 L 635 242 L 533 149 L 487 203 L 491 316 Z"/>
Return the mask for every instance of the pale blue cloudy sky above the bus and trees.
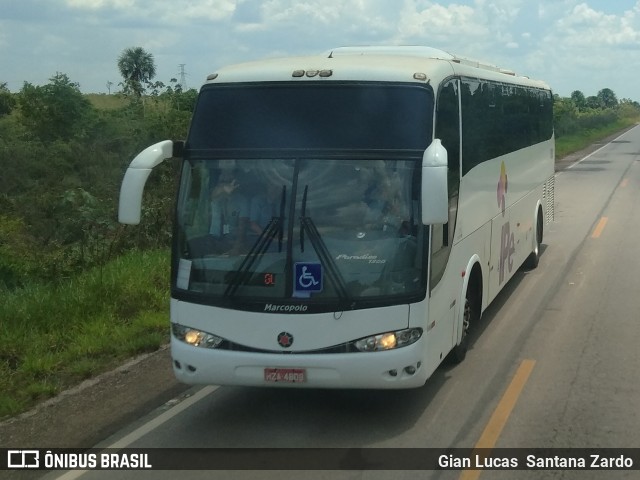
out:
<path id="1" fill-rule="evenodd" d="M 118 91 L 129 47 L 155 80 L 199 88 L 219 67 L 345 45 L 426 45 L 544 80 L 567 97 L 640 101 L 640 0 L 0 0 L 0 84 L 66 74 Z"/>

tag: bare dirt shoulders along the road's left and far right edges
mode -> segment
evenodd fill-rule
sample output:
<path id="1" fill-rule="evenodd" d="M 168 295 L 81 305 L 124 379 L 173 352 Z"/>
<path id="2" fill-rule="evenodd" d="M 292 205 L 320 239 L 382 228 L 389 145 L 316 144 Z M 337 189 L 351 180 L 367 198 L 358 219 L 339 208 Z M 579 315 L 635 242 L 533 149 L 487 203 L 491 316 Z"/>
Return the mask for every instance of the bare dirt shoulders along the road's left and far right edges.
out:
<path id="1" fill-rule="evenodd" d="M 558 160 L 556 171 L 622 133 Z M 188 388 L 175 380 L 169 349 L 164 347 L 0 422 L 0 448 L 89 448 Z"/>

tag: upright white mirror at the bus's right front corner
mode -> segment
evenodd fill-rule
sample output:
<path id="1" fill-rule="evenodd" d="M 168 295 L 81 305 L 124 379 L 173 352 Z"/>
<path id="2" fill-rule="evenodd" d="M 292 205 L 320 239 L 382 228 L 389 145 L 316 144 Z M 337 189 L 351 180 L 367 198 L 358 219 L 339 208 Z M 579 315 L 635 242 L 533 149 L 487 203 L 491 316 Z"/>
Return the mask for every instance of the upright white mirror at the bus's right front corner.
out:
<path id="1" fill-rule="evenodd" d="M 422 224 L 449 221 L 447 150 L 434 139 L 422 157 Z"/>

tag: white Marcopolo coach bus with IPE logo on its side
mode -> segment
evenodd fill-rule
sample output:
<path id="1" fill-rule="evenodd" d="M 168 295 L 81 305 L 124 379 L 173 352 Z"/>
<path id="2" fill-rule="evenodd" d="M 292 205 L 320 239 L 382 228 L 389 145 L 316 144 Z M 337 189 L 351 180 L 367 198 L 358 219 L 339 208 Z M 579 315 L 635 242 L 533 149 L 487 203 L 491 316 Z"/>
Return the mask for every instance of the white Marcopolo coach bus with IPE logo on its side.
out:
<path id="1" fill-rule="evenodd" d="M 182 159 L 171 354 L 187 384 L 411 388 L 448 355 L 553 216 L 553 97 L 426 47 L 236 65 L 202 87 Z"/>

